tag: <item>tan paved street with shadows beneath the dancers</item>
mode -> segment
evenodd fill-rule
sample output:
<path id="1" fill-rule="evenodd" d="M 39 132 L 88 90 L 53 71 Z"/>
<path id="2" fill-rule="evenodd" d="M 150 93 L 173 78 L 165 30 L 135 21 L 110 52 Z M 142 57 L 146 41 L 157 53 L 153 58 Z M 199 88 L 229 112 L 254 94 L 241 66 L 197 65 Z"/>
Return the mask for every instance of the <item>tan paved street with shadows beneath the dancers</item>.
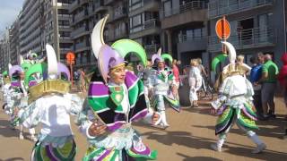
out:
<path id="1" fill-rule="evenodd" d="M 267 149 L 262 154 L 250 153 L 255 145 L 236 126 L 230 131 L 222 152 L 210 149 L 210 144 L 217 140 L 214 135 L 216 116 L 209 114 L 209 106 L 206 103 L 197 108 L 183 108 L 180 113 L 169 108 L 167 114 L 170 128 L 167 130 L 157 129 L 143 123 L 136 123 L 135 129 L 142 134 L 145 144 L 158 150 L 158 160 L 287 160 L 287 140 L 282 140 L 283 128 L 286 124 L 283 117 L 286 109 L 282 98 L 276 98 L 275 104 L 277 118 L 266 122 L 257 122 L 260 127 L 257 134 L 267 145 Z M 88 145 L 74 125 L 74 118 L 71 119 L 71 123 L 77 144 L 75 160 L 78 161 L 83 157 Z M 34 142 L 29 140 L 28 130 L 24 131 L 25 140 L 19 140 L 19 131 L 9 128 L 8 115 L 1 110 L 1 161 L 30 160 Z"/>

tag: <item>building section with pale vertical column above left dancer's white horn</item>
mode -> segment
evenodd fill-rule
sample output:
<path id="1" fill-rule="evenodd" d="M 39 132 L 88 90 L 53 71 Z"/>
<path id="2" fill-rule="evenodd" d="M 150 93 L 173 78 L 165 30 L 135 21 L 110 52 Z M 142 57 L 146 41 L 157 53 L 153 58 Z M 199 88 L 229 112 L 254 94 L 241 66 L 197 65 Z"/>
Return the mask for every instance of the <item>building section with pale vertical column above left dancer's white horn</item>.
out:
<path id="1" fill-rule="evenodd" d="M 52 45 L 60 61 L 65 63 L 65 55 L 72 50 L 69 5 L 71 0 L 42 0 L 43 15 L 39 29 L 42 30 L 41 46 L 45 52 L 45 45 Z"/>

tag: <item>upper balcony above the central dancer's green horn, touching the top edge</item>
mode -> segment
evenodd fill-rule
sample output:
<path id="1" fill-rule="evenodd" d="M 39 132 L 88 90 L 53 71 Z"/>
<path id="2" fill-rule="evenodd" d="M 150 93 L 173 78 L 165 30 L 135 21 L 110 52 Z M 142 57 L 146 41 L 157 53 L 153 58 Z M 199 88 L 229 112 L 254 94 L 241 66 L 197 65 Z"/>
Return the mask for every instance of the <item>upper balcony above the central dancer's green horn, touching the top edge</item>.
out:
<path id="1" fill-rule="evenodd" d="M 160 11 L 160 2 L 157 0 L 142 0 L 141 3 L 129 6 L 129 16 L 134 16 L 145 11 Z"/>

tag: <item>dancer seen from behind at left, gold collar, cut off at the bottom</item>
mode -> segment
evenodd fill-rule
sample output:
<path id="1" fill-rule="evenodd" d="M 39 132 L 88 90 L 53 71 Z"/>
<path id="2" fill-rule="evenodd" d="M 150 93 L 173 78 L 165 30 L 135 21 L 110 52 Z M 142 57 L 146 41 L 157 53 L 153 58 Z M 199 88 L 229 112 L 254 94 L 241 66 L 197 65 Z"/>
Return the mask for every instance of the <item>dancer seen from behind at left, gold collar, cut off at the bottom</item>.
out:
<path id="1" fill-rule="evenodd" d="M 21 123 L 34 127 L 41 123 L 38 142 L 31 153 L 31 160 L 74 160 L 76 145 L 70 125 L 70 114 L 78 114 L 83 100 L 76 94 L 69 94 L 70 74 L 64 64 L 57 63 L 53 47 L 46 45 L 47 64 L 34 64 L 26 72 L 25 84 L 30 76 L 39 72 L 48 78 L 39 84 L 30 84 L 29 106 L 18 112 Z M 58 79 L 65 75 L 65 80 Z"/>

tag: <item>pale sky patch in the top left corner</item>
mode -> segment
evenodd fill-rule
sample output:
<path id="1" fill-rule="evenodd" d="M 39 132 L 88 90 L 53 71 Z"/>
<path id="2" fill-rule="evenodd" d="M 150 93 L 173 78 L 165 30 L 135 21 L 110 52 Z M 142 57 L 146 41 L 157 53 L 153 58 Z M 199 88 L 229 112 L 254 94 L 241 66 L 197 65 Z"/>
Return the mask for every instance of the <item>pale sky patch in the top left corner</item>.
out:
<path id="1" fill-rule="evenodd" d="M 10 27 L 20 13 L 24 0 L 0 0 L 0 34 Z"/>

